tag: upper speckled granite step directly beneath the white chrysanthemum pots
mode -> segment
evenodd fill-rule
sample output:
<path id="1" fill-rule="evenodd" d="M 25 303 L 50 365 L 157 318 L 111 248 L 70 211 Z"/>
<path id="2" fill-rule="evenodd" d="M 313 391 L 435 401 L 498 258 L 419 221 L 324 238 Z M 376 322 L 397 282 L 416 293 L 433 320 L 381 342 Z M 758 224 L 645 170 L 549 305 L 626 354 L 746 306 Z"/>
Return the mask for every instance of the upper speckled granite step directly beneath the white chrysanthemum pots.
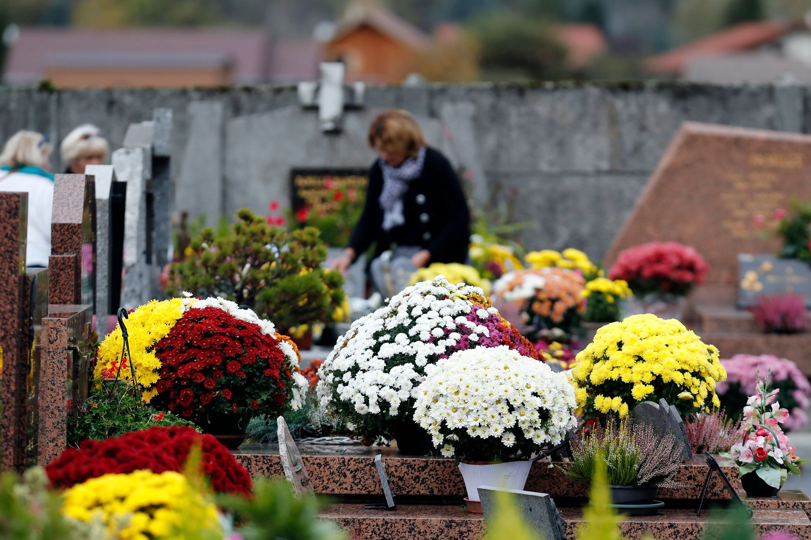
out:
<path id="1" fill-rule="evenodd" d="M 397 495 L 408 496 L 435 496 L 435 497 L 464 497 L 465 483 L 461 478 L 459 468 L 452 459 L 441 457 L 401 457 L 397 451 L 387 447 L 343 449 L 344 452 L 358 452 L 357 455 L 336 453 L 340 449 L 312 448 L 307 444 L 299 444 L 299 451 L 303 455 L 307 474 L 316 493 L 324 495 L 380 495 L 380 479 L 375 469 L 375 453 L 384 454 L 384 464 L 388 474 L 388 482 Z M 237 461 L 242 463 L 251 475 L 255 476 L 281 476 L 281 458 L 278 449 L 274 446 L 242 445 L 234 453 Z M 730 461 L 718 458 L 727 477 L 733 486 L 740 488 L 737 478 L 736 466 Z M 706 461 L 703 459 L 691 460 L 681 466 L 676 474 L 676 483 L 683 487 L 659 490 L 659 499 L 663 500 L 692 500 L 701 493 L 706 474 L 709 472 Z M 527 479 L 527 491 L 549 493 L 553 497 L 579 498 L 588 495 L 585 484 L 576 483 L 566 477 L 560 467 L 549 467 L 547 464 L 534 463 Z M 710 483 L 709 498 L 726 500 L 729 498 L 724 491 L 718 474 L 713 475 Z"/>

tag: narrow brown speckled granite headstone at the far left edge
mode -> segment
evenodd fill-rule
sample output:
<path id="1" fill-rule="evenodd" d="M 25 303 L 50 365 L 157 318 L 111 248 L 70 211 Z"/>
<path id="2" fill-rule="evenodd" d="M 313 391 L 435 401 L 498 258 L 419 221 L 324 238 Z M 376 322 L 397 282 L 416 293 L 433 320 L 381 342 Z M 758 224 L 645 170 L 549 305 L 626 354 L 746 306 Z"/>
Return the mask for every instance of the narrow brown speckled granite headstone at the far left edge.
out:
<path id="1" fill-rule="evenodd" d="M 0 467 L 25 466 L 25 364 L 23 276 L 28 193 L 0 193 L 0 347 L 2 347 L 2 454 Z"/>

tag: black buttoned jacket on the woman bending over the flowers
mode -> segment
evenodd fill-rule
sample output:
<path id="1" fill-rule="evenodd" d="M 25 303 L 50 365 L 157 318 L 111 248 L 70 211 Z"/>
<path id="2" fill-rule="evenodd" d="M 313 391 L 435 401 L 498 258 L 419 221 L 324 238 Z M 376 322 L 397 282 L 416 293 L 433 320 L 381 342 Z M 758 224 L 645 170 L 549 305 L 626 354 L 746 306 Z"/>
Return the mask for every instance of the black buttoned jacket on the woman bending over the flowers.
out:
<path id="1" fill-rule="evenodd" d="M 411 181 L 403 195 L 405 223 L 383 230 L 383 168 L 375 160 L 369 172 L 366 205 L 355 225 L 349 247 L 356 255 L 364 253 L 377 242 L 375 257 L 391 244 L 419 246 L 431 252 L 429 262 L 467 261 L 470 242 L 470 211 L 465 193 L 450 162 L 439 151 L 428 147 L 423 172 Z"/>

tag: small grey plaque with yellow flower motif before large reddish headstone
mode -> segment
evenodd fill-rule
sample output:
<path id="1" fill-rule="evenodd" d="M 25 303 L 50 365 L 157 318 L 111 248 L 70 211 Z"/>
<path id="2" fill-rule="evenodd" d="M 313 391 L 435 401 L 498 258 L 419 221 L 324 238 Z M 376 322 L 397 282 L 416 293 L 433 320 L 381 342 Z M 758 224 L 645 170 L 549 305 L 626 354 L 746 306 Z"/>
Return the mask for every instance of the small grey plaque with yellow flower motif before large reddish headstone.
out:
<path id="1" fill-rule="evenodd" d="M 805 296 L 811 307 L 811 268 L 796 259 L 771 255 L 738 255 L 738 306 L 748 308 L 761 296 L 792 293 Z"/>

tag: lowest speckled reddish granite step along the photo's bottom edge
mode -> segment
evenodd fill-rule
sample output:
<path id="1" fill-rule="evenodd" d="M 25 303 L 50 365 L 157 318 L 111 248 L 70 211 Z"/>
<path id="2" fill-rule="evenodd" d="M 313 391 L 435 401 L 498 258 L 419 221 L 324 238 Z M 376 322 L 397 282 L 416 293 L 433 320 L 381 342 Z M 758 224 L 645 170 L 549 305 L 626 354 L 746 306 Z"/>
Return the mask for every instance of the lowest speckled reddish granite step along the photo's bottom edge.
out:
<path id="1" fill-rule="evenodd" d="M 559 508 L 566 532 L 574 538 L 583 523 L 582 508 Z M 714 509 L 696 516 L 693 509 L 662 508 L 654 516 L 626 517 L 620 524 L 624 538 L 637 540 L 652 534 L 657 540 L 702 538 L 709 524 L 723 524 L 730 513 Z M 321 513 L 336 521 L 352 540 L 474 540 L 484 534 L 483 516 L 461 505 L 400 504 L 396 510 L 366 510 L 363 504 L 336 504 Z M 803 510 L 757 508 L 751 521 L 758 535 L 784 530 L 798 538 L 811 538 L 811 521 Z"/>

